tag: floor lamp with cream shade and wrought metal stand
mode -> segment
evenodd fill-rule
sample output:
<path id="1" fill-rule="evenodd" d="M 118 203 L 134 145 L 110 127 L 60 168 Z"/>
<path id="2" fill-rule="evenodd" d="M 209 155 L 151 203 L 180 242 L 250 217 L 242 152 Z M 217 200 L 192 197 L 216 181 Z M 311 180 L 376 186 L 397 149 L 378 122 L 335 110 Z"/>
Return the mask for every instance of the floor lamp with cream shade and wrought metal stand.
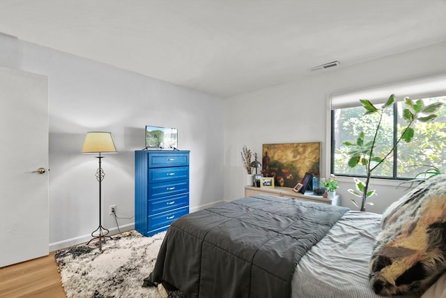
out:
<path id="1" fill-rule="evenodd" d="M 98 154 L 96 158 L 98 158 L 99 161 L 99 167 L 96 171 L 96 179 L 99 182 L 99 227 L 91 232 L 91 239 L 88 243 L 90 244 L 91 241 L 98 239 L 99 241 L 99 250 L 102 251 L 102 239 L 107 237 L 107 234 L 109 233 L 109 230 L 102 227 L 101 223 L 101 196 L 102 196 L 102 179 L 104 179 L 105 174 L 101 167 L 102 156 L 101 154 L 105 153 L 118 153 L 116 151 L 116 147 L 114 146 L 112 133 L 102 132 L 102 131 L 91 131 L 89 133 L 86 133 L 85 140 L 84 140 L 84 146 L 82 147 L 82 153 L 95 153 Z"/>

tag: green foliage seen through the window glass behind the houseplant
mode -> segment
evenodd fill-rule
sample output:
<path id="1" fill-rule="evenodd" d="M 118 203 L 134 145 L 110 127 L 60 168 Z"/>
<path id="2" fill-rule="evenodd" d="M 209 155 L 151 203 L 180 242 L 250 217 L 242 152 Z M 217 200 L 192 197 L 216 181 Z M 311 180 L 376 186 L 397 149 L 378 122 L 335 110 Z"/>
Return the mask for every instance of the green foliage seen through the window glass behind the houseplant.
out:
<path id="1" fill-rule="evenodd" d="M 424 105 L 442 102 L 446 103 L 446 96 L 436 98 L 424 98 Z M 376 156 L 383 156 L 388 149 L 393 146 L 394 140 L 394 110 L 398 111 L 396 135 L 401 135 L 401 131 L 406 128 L 406 122 L 401 115 L 403 103 L 396 103 L 396 109 L 385 110 L 381 121 L 381 128 L 378 132 L 376 144 Z M 380 105 L 376 105 L 380 107 Z M 394 179 L 413 179 L 432 167 L 436 167 L 440 172 L 446 171 L 446 109 L 436 112 L 438 118 L 432 122 L 416 122 L 413 124 L 415 134 L 411 142 L 401 142 L 397 146 L 396 172 L 394 172 L 394 156 L 389 156 L 374 171 L 374 177 L 385 177 Z M 364 108 L 348 107 L 334 111 L 334 174 L 366 176 L 364 167 L 349 167 L 348 160 L 351 157 L 348 147 L 342 143 L 356 140 L 361 132 L 371 132 L 376 128 L 378 114 L 371 114 L 364 117 Z M 373 165 L 373 162 L 372 162 Z"/>

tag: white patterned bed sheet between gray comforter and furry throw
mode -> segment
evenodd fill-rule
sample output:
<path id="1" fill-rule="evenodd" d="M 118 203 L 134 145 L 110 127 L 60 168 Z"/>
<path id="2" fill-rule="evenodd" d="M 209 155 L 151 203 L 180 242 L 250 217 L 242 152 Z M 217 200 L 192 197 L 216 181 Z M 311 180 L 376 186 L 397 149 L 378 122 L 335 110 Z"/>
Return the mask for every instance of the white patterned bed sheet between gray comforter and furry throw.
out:
<path id="1" fill-rule="evenodd" d="M 296 266 L 292 297 L 382 298 L 371 288 L 368 276 L 380 219 L 380 214 L 348 211 Z"/>

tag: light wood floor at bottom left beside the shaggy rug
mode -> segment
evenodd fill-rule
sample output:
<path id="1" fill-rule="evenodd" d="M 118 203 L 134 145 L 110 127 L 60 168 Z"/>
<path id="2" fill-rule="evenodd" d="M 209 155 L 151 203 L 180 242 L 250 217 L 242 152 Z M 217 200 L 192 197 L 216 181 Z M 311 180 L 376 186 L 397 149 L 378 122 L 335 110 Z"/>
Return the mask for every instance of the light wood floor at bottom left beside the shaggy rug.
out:
<path id="1" fill-rule="evenodd" d="M 66 298 L 54 253 L 0 268 L 0 297 Z"/>

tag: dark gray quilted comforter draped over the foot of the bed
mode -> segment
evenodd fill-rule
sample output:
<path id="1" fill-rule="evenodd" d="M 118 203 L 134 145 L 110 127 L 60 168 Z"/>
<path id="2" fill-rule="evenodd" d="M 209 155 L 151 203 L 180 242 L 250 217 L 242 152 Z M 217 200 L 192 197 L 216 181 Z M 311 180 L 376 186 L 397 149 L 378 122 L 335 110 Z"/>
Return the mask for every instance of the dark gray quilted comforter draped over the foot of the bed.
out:
<path id="1" fill-rule="evenodd" d="M 175 221 L 146 282 L 192 297 L 291 297 L 295 265 L 345 207 L 254 195 Z"/>

